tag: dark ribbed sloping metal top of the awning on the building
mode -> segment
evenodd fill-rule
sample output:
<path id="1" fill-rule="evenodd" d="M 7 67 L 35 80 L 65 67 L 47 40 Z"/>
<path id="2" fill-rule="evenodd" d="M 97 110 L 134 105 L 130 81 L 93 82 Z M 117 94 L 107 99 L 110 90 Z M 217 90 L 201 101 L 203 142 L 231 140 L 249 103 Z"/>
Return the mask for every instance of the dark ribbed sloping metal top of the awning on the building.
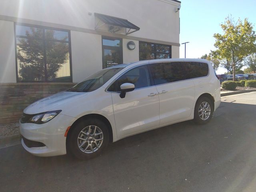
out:
<path id="1" fill-rule="evenodd" d="M 94 16 L 97 16 L 105 24 L 119 26 L 119 27 L 125 27 L 125 28 L 129 28 L 129 29 L 134 29 L 134 30 L 140 30 L 140 28 L 138 26 L 132 24 L 131 22 L 129 22 L 126 19 L 113 17 L 113 16 L 109 16 L 109 15 L 104 15 L 104 14 L 99 14 L 99 13 L 94 13 Z"/>

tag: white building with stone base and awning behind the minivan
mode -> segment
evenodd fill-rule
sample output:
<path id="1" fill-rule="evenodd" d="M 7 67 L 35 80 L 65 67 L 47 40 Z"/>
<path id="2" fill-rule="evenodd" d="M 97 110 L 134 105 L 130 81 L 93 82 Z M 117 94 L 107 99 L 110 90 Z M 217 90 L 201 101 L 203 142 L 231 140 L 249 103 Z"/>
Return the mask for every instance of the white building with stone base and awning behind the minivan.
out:
<path id="1" fill-rule="evenodd" d="M 0 123 L 112 65 L 179 57 L 178 0 L 3 0 Z"/>

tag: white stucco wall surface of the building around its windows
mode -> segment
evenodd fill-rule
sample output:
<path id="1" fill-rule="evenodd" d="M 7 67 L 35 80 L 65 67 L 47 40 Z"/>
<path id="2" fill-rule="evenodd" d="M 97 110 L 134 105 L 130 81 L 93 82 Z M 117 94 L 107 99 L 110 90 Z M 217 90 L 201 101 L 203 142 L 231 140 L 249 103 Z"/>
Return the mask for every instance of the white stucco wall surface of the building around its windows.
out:
<path id="1" fill-rule="evenodd" d="M 172 0 L 2 0 L 0 83 L 16 82 L 14 22 L 9 20 L 70 30 L 72 77 L 80 82 L 102 69 L 102 36 L 95 34 L 95 12 L 125 18 L 140 27 L 122 37 L 104 34 L 122 38 L 123 62 L 128 63 L 139 60 L 139 40 L 172 45 L 172 58 L 179 58 L 179 12 L 175 12 L 179 5 Z M 130 40 L 135 50 L 128 50 Z"/>

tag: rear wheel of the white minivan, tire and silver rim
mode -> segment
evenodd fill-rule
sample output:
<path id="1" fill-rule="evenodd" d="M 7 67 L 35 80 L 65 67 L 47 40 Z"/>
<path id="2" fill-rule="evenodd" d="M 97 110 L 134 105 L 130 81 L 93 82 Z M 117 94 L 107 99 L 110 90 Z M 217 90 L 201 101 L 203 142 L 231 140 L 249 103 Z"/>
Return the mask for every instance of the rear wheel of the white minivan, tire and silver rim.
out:
<path id="1" fill-rule="evenodd" d="M 208 123 L 214 111 L 214 105 L 210 98 L 201 97 L 196 101 L 194 109 L 194 122 L 196 124 L 206 124 Z"/>

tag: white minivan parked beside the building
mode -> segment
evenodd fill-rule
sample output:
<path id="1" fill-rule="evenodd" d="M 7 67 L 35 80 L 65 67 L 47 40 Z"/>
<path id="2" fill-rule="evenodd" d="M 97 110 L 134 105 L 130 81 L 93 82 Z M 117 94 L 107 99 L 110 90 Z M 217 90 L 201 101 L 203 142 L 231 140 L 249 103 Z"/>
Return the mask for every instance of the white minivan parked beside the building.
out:
<path id="1" fill-rule="evenodd" d="M 122 138 L 192 120 L 205 124 L 220 105 L 220 81 L 202 59 L 120 64 L 24 109 L 22 146 L 36 156 L 97 156 Z"/>

